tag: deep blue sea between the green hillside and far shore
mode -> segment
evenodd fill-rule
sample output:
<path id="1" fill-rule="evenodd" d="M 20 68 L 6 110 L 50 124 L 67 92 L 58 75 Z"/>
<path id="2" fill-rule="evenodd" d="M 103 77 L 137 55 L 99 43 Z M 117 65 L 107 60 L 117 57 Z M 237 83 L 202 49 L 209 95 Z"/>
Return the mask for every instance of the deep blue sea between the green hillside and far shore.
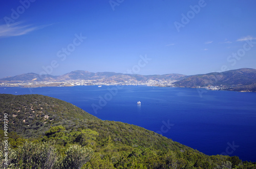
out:
<path id="1" fill-rule="evenodd" d="M 0 88 L 0 93 L 58 98 L 102 120 L 138 125 L 207 155 L 256 162 L 256 93 L 146 86 Z"/>

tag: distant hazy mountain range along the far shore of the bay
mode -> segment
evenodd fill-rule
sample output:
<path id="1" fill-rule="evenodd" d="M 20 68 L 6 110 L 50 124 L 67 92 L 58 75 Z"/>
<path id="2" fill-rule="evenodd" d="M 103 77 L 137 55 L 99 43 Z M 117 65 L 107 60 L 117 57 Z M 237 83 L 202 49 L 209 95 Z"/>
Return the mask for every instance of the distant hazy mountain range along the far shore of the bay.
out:
<path id="1" fill-rule="evenodd" d="M 97 80 L 98 82 L 106 83 L 124 81 L 145 82 L 147 80 L 177 80 L 174 82 L 175 87 L 202 88 L 210 86 L 221 86 L 224 90 L 256 92 L 256 69 L 250 68 L 189 76 L 183 74 L 140 75 L 115 72 L 93 73 L 89 71 L 76 70 L 60 76 L 26 73 L 13 77 L 2 78 L 0 79 L 0 82 L 68 80 Z"/>

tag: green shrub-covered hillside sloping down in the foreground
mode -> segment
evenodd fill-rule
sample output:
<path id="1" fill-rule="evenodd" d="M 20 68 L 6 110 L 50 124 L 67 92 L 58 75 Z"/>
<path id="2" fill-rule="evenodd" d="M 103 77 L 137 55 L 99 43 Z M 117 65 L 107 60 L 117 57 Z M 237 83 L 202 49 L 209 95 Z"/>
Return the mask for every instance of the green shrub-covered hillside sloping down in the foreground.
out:
<path id="1" fill-rule="evenodd" d="M 236 156 L 207 156 L 135 125 L 102 121 L 47 96 L 0 94 L 0 111 L 1 139 L 4 115 L 9 120 L 11 168 L 256 168 Z"/>

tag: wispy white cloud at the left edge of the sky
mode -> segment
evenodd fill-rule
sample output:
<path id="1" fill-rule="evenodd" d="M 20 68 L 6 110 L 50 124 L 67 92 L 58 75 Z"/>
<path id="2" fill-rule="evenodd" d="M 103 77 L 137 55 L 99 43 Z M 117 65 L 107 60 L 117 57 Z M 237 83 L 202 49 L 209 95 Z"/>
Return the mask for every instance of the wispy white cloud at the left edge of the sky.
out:
<path id="1" fill-rule="evenodd" d="M 46 26 L 49 26 L 49 25 L 32 26 L 30 24 L 24 25 L 22 24 L 22 22 L 16 22 L 11 24 L 10 26 L 7 26 L 6 24 L 2 24 L 0 25 L 0 38 L 25 35 L 32 31 L 42 29 Z"/>

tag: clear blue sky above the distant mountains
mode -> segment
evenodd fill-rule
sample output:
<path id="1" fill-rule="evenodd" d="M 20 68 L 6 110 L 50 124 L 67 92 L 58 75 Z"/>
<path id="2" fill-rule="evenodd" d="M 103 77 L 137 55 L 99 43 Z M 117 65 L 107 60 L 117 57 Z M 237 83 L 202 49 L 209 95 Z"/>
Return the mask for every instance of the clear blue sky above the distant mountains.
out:
<path id="1" fill-rule="evenodd" d="M 255 6 L 231 0 L 3 0 L 0 78 L 74 70 L 192 75 L 255 69 Z"/>

